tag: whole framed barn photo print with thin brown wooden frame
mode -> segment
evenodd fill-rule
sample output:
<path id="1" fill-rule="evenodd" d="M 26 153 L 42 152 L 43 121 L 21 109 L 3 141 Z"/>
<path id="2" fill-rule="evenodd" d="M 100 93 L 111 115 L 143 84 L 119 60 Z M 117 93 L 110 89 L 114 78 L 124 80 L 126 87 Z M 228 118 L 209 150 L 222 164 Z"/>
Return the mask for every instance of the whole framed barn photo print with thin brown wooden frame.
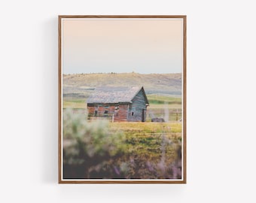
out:
<path id="1" fill-rule="evenodd" d="M 59 16 L 59 183 L 186 183 L 186 16 Z"/>

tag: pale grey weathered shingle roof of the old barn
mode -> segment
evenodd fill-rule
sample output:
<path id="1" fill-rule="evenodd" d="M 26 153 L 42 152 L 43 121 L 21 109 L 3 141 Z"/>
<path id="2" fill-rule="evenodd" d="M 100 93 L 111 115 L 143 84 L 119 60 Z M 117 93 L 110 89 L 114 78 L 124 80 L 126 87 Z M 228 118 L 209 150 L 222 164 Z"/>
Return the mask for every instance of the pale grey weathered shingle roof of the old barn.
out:
<path id="1" fill-rule="evenodd" d="M 143 94 L 145 91 L 143 86 L 120 86 L 120 87 L 97 87 L 93 94 L 87 98 L 87 103 L 127 103 L 132 102 L 133 98 L 142 89 Z M 146 103 L 148 98 L 145 95 Z"/>

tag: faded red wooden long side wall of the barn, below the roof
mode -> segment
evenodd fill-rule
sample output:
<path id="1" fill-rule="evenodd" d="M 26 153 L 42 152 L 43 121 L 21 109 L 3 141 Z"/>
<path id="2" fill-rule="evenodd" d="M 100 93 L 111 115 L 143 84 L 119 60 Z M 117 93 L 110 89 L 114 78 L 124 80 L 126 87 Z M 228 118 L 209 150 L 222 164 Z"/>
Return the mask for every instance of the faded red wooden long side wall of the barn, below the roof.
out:
<path id="1" fill-rule="evenodd" d="M 114 116 L 114 121 L 127 121 L 128 105 L 127 104 L 87 104 L 89 117 L 102 118 Z M 106 113 L 108 111 L 108 113 Z"/>

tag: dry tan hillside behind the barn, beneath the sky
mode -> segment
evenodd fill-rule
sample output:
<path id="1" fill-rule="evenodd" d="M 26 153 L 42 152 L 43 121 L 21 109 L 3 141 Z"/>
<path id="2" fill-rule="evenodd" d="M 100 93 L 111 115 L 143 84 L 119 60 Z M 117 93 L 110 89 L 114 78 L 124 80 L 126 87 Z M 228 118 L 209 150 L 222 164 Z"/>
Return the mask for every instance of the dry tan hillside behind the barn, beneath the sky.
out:
<path id="1" fill-rule="evenodd" d="M 63 74 L 64 97 L 87 97 L 96 86 L 144 86 L 147 94 L 181 95 L 181 74 Z"/>

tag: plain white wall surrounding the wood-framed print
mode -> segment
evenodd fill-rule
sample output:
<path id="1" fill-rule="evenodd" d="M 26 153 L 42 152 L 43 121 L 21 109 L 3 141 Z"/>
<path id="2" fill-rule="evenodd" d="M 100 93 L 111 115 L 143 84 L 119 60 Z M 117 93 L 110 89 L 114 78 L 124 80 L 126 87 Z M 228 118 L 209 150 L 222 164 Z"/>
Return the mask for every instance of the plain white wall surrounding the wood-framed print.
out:
<path id="1" fill-rule="evenodd" d="M 1 202 L 256 202 L 254 1 L 6 1 Z M 57 184 L 57 15 L 187 15 L 187 185 Z"/>

